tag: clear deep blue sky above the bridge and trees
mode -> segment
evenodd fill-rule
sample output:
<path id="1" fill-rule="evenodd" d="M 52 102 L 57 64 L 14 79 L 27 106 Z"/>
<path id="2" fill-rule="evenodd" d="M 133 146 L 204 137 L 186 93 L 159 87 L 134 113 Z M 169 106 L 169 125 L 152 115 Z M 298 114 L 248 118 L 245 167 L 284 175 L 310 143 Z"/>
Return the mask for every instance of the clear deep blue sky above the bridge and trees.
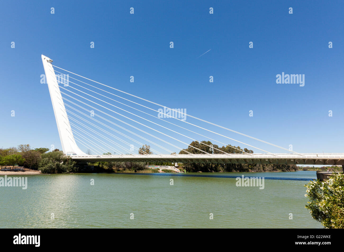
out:
<path id="1" fill-rule="evenodd" d="M 292 146 L 298 153 L 344 153 L 343 13 L 343 1 L 1 1 L 0 147 L 62 149 L 49 89 L 41 83 L 43 54 L 60 68 L 283 148 Z M 304 86 L 276 83 L 282 72 L 301 74 Z M 287 152 L 191 117 L 186 121 L 264 151 Z M 208 140 L 166 125 L 192 139 Z M 181 142 L 136 126 L 177 147 L 192 141 L 161 127 L 159 131 Z M 220 142 L 263 152 L 204 132 Z M 159 143 L 168 149 L 160 149 L 162 153 L 179 152 Z M 79 147 L 86 151 L 87 146 Z"/>

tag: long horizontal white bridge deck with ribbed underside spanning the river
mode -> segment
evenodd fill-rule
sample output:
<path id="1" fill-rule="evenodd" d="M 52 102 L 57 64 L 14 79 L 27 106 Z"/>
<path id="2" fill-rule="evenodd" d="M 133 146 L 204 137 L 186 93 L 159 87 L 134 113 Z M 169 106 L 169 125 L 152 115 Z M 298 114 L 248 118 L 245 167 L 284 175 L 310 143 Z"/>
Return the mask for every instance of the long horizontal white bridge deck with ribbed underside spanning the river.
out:
<path id="1" fill-rule="evenodd" d="M 170 162 L 204 164 L 344 165 L 344 154 L 194 154 L 194 155 L 86 155 L 80 161 Z"/>

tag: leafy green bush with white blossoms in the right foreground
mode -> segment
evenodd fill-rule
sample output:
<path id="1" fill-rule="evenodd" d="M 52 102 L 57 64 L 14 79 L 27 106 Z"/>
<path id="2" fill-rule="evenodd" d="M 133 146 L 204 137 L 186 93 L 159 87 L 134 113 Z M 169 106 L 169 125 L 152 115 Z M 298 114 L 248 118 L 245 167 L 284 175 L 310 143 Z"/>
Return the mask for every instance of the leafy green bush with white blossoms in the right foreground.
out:
<path id="1" fill-rule="evenodd" d="M 327 181 L 310 181 L 305 194 L 313 219 L 325 228 L 344 228 L 344 174 L 333 173 Z"/>

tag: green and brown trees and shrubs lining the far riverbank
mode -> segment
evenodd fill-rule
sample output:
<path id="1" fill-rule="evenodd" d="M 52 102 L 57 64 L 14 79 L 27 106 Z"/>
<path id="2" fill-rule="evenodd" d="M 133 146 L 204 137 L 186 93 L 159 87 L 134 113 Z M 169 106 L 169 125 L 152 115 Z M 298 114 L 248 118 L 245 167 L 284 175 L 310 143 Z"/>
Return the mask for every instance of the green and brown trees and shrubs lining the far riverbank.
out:
<path id="1" fill-rule="evenodd" d="M 186 149 L 179 154 L 201 154 L 202 151 L 208 153 L 220 154 L 221 151 L 233 154 L 253 153 L 247 148 L 241 149 L 240 146 L 222 146 L 213 145 L 210 141 L 202 141 L 208 146 L 193 141 Z M 110 154 L 110 153 L 107 153 Z M 153 154 L 149 145 L 143 145 L 139 149 L 139 154 Z M 175 153 L 173 153 L 175 154 Z M 106 155 L 106 153 L 104 153 Z M 77 163 L 72 158 L 63 155 L 59 149 L 50 151 L 48 148 L 33 149 L 29 144 L 21 144 L 18 147 L 10 147 L 6 149 L 0 148 L 0 169 L 11 168 L 15 166 L 23 167 L 25 170 L 36 170 L 42 173 L 76 173 L 76 172 L 175 172 L 169 169 L 149 168 L 148 165 L 157 166 L 174 166 L 172 163 L 140 163 L 140 162 L 94 162 L 94 163 Z M 298 170 L 342 170 L 337 166 L 324 167 L 300 167 L 297 165 L 284 164 L 195 164 L 195 163 L 179 163 L 176 167 L 182 172 L 279 172 L 279 171 L 298 171 Z M 178 170 L 177 170 L 178 171 Z"/>

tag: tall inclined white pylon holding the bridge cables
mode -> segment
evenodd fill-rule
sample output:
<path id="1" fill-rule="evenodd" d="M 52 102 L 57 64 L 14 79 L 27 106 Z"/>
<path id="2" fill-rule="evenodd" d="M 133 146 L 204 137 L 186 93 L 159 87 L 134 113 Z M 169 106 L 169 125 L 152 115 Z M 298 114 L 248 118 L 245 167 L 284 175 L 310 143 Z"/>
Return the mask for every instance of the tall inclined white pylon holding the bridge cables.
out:
<path id="1" fill-rule="evenodd" d="M 71 125 L 69 124 L 66 109 L 62 100 L 60 88 L 58 87 L 53 65 L 51 64 L 53 61 L 44 55 L 42 55 L 42 61 L 63 153 L 65 155 L 87 156 L 87 154 L 84 153 L 75 143 Z"/>

